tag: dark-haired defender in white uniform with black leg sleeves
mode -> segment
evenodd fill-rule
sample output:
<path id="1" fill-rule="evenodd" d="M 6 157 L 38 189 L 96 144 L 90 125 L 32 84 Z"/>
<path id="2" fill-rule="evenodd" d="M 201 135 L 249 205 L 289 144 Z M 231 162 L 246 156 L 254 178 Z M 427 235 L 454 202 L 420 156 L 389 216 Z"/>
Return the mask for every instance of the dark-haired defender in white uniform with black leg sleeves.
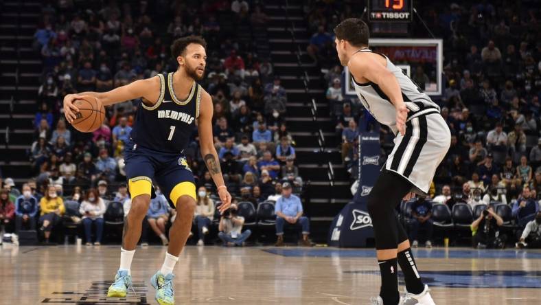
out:
<path id="1" fill-rule="evenodd" d="M 449 128 L 439 114 L 439 106 L 428 95 L 387 56 L 369 49 L 366 23 L 345 19 L 334 33 L 338 58 L 349 68 L 360 102 L 396 135 L 395 147 L 367 203 L 381 271 L 380 295 L 371 302 L 396 305 L 416 300 L 417 304 L 434 304 L 428 286 L 419 277 L 408 236 L 394 210 L 401 199 L 415 194 L 426 196 L 436 168 L 449 149 Z M 397 262 L 406 282 L 404 297 L 398 292 Z"/>

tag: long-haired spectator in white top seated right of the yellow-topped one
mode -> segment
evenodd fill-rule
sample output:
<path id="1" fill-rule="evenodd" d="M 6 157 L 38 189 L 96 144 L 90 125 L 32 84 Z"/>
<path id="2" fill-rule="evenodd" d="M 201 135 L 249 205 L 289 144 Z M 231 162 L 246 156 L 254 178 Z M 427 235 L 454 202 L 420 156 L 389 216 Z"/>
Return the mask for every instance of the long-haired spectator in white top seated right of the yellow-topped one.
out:
<path id="1" fill-rule="evenodd" d="M 85 196 L 79 207 L 79 212 L 82 215 L 82 225 L 84 226 L 84 236 L 87 240 L 87 246 L 92 245 L 92 225 L 95 227 L 94 245 L 99 246 L 102 242 L 104 227 L 103 215 L 105 214 L 105 210 L 105 203 L 97 194 L 97 190 L 95 188 L 88 190 L 87 196 Z"/>

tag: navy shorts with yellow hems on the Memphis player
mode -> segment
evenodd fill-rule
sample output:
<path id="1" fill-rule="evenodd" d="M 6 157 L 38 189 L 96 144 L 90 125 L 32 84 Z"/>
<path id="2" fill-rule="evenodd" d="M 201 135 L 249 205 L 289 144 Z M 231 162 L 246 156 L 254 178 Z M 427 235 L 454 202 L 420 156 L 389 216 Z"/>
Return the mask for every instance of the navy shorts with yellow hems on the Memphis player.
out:
<path id="1" fill-rule="evenodd" d="M 196 185 L 192 169 L 181 153 L 163 153 L 126 143 L 124 150 L 126 179 L 131 198 L 149 194 L 154 198 L 155 181 L 171 207 L 183 195 L 196 199 Z"/>

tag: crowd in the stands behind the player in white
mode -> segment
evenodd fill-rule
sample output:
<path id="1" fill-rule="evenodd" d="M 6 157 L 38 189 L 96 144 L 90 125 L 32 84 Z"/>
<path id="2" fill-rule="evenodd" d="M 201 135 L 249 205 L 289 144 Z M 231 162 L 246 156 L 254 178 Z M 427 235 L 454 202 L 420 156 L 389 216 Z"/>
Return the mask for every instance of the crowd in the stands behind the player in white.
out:
<path id="1" fill-rule="evenodd" d="M 538 231 L 534 218 L 541 199 L 541 16 L 533 8 L 499 5 L 500 2 L 454 1 L 441 7 L 427 1 L 415 3 L 430 31 L 444 40 L 444 90 L 441 97 L 433 99 L 441 106 L 441 115 L 452 133 L 448 155 L 436 172 L 432 199 L 415 203 L 407 215 L 411 218 L 408 230 L 415 246 L 419 231 L 422 239 L 427 240 L 426 245 L 431 246 L 433 203 L 447 204 L 450 209 L 454 203 L 465 203 L 472 211 L 476 205 L 494 207 L 494 203 L 502 203 L 510 207 L 513 223 L 520 229 L 529 224 L 529 231 Z M 355 1 L 310 1 L 305 6 L 313 33 L 307 51 L 325 71 L 326 98 L 336 133 L 342 138 L 342 158 L 349 172 L 357 163 L 358 131 L 369 130 L 373 118 L 363 111 L 356 98 L 343 96 L 343 68 L 334 59 L 336 54 L 330 42 L 334 40 L 332 30 L 340 20 L 362 14 L 361 10 L 352 10 L 354 5 Z M 424 27 L 413 28 L 411 36 L 426 38 Z M 425 68 L 411 67 L 411 78 L 421 88 L 428 83 Z M 381 131 L 380 160 L 384 161 L 393 147 L 393 137 L 389 137 L 386 127 L 376 128 Z M 435 194 L 436 188 L 441 193 Z M 490 223 L 486 227 L 495 228 L 489 230 L 492 240 L 475 245 L 505 244 L 501 238 L 494 239 L 494 232 L 501 225 L 496 210 L 486 211 L 472 223 L 472 235 L 477 239 L 485 236 L 486 232 L 479 228 L 485 226 L 486 218 L 486 223 Z M 529 231 L 520 240 L 524 241 Z"/>

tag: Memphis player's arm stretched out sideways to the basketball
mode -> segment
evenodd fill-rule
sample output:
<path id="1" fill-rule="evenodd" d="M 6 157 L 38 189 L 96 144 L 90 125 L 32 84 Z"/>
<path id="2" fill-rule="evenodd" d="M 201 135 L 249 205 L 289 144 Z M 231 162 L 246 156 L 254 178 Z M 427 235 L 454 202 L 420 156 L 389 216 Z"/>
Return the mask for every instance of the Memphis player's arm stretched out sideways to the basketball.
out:
<path id="1" fill-rule="evenodd" d="M 153 78 L 147 78 L 145 80 L 136 80 L 126 86 L 115 88 L 107 92 L 81 92 L 77 94 L 68 94 L 64 97 L 64 115 L 68 122 L 73 122 L 76 119 L 76 113 L 79 112 L 77 106 L 73 104 L 73 101 L 81 98 L 84 95 L 91 95 L 104 106 L 111 106 L 126 100 L 133 100 L 135 98 L 145 98 L 150 101 L 149 106 L 152 106 L 157 102 L 160 94 L 160 80 L 158 76 Z"/>

